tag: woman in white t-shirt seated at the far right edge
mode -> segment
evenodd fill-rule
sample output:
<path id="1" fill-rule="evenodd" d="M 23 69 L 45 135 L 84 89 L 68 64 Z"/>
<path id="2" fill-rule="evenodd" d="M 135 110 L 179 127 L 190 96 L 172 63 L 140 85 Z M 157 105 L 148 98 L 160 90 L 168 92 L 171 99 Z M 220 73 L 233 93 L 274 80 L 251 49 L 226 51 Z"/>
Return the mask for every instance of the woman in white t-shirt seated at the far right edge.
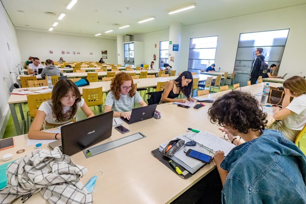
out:
<path id="1" fill-rule="evenodd" d="M 306 124 L 306 80 L 301 76 L 293 76 L 284 81 L 283 87 L 286 94 L 282 109 L 273 108 L 273 117 L 278 122 L 270 125 L 269 129 L 282 131 L 290 141 L 295 142 Z M 290 97 L 294 97 L 291 102 Z"/>

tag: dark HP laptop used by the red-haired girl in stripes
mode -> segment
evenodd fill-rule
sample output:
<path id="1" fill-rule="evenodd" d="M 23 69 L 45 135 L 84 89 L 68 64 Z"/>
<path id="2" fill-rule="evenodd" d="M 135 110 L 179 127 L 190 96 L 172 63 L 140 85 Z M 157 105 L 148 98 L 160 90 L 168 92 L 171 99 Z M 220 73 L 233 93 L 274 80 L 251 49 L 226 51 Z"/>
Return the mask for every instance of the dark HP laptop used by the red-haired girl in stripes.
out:
<path id="1" fill-rule="evenodd" d="M 157 107 L 157 104 L 134 108 L 132 109 L 130 120 L 125 119 L 124 117 L 121 117 L 121 119 L 125 121 L 127 124 L 132 124 L 132 123 L 136 123 L 139 121 L 150 119 L 154 116 L 156 107 Z"/>

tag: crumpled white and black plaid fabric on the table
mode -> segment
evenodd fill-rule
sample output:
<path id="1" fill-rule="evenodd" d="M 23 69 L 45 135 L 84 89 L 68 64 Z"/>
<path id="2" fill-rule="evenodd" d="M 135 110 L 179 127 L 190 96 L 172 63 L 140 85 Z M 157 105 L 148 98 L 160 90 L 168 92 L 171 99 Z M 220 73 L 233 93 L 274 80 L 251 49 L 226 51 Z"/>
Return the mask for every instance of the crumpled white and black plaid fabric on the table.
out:
<path id="1" fill-rule="evenodd" d="M 74 164 L 58 147 L 53 151 L 34 150 L 8 166 L 0 204 L 39 191 L 50 203 L 92 203 L 91 193 L 79 181 L 86 172 L 87 168 Z"/>

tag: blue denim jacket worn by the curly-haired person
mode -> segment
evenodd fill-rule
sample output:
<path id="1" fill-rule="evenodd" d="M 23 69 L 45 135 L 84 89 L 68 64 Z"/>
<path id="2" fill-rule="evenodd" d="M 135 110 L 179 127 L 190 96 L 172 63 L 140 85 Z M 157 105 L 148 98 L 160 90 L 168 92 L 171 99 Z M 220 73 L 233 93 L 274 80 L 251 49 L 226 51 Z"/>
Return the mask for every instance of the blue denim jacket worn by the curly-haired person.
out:
<path id="1" fill-rule="evenodd" d="M 282 132 L 263 130 L 220 166 L 228 172 L 222 203 L 306 203 L 306 157 Z"/>

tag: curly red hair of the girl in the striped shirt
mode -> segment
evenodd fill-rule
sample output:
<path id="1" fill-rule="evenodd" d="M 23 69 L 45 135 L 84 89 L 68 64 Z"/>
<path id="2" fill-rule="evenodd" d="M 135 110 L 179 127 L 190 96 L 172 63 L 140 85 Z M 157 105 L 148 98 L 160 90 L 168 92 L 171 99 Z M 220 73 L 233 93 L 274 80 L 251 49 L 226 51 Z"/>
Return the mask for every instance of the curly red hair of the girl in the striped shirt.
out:
<path id="1" fill-rule="evenodd" d="M 133 97 L 136 93 L 135 84 L 133 82 L 132 77 L 126 72 L 119 72 L 118 74 L 116 74 L 116 76 L 114 77 L 114 79 L 112 79 L 112 82 L 110 83 L 110 91 L 113 91 L 113 94 L 117 101 L 120 98 L 120 87 L 123 81 L 132 81 L 132 88 L 129 91 L 130 97 Z"/>

